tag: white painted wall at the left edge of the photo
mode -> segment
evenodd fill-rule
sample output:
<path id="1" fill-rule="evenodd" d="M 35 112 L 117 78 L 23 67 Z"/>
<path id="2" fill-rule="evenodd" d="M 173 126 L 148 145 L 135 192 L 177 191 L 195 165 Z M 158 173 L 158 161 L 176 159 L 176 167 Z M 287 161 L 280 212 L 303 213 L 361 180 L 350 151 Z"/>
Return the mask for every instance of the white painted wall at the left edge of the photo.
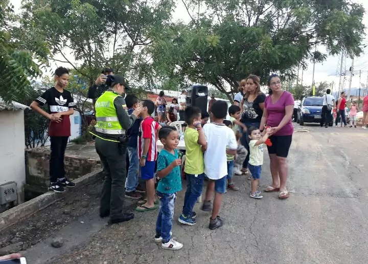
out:
<path id="1" fill-rule="evenodd" d="M 24 111 L 0 111 L 0 185 L 17 184 L 18 203 L 26 182 Z"/>

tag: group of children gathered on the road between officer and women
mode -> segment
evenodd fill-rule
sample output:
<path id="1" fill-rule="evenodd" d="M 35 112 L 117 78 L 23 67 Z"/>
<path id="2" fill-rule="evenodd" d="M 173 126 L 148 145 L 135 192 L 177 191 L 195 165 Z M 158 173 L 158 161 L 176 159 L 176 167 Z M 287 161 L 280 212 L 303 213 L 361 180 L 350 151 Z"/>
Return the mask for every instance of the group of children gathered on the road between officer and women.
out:
<path id="1" fill-rule="evenodd" d="M 128 108 L 133 109 L 137 106 L 137 100 L 129 96 L 126 98 L 126 104 Z M 141 119 L 127 131 L 129 138 L 137 140 L 137 155 L 135 157 L 129 155 L 129 171 L 134 170 L 134 183 L 127 178 L 126 197 L 137 199 L 136 197 L 139 196 L 139 193 L 136 193 L 139 184 L 135 175 L 140 169 L 141 178 L 146 181 L 147 199 L 140 201 L 140 205 L 135 210 L 145 212 L 159 208 L 154 239 L 156 242 L 161 242 L 164 249 L 178 250 L 183 245 L 172 238 L 171 229 L 176 193 L 181 190 L 181 159 L 177 150 L 180 136 L 175 127 L 161 126 L 154 121 L 151 117 L 155 107 L 153 102 L 143 100 L 140 102 L 140 107 Z M 201 210 L 211 212 L 209 228 L 214 230 L 223 225 L 223 219 L 219 216 L 223 193 L 226 193 L 226 189 L 239 190 L 232 181 L 233 172 L 241 174 L 240 168 L 247 150 L 239 143 L 242 131 L 246 129 L 239 121 L 240 107 L 236 105 L 228 107 L 225 101 L 219 100 L 214 103 L 212 109 L 211 123 L 207 123 L 208 116 L 204 114 L 203 118 L 198 107 L 190 106 L 185 109 L 187 127 L 183 140 L 186 145 L 186 160 L 183 171 L 187 190 L 178 222 L 190 226 L 197 223 L 197 214 L 193 208 L 202 194 L 204 181 L 208 180 Z M 225 119 L 227 113 L 230 116 L 229 120 Z M 256 199 L 262 198 L 257 187 L 263 164 L 263 143 L 269 133 L 267 129 L 264 135 L 259 128 L 249 129 L 249 169 L 253 177 L 250 197 Z M 157 140 L 163 144 L 163 149 L 159 153 Z M 136 164 L 140 167 L 137 168 Z M 156 194 L 155 175 L 159 178 Z M 128 189 L 128 185 L 135 186 L 135 189 L 132 187 Z"/>

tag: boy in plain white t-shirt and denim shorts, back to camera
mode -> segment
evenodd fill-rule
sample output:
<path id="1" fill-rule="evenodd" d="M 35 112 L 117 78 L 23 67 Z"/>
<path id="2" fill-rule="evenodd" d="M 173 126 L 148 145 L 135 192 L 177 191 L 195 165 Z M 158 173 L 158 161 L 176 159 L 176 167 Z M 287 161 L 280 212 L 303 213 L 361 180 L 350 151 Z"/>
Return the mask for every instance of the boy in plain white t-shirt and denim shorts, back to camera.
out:
<path id="1" fill-rule="evenodd" d="M 226 191 L 226 154 L 235 155 L 238 143 L 233 130 L 223 123 L 227 114 L 227 103 L 218 100 L 214 102 L 212 109 L 211 116 L 213 122 L 203 127 L 207 142 L 204 152 L 204 173 L 209 178 L 209 183 L 207 184 L 205 200 L 201 209 L 203 211 L 212 211 L 209 228 L 214 230 L 223 225 L 223 220 L 218 214 L 222 203 L 222 193 Z M 211 197 L 214 190 L 215 199 L 212 207 Z"/>

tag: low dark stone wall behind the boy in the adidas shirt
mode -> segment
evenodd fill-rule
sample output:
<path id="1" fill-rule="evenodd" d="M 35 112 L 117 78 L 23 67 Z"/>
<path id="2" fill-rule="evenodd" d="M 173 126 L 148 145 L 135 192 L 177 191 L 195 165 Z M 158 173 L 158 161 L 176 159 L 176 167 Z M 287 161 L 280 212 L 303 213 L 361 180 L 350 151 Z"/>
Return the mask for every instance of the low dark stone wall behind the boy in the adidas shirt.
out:
<path id="1" fill-rule="evenodd" d="M 26 149 L 26 184 L 28 186 L 44 189 L 49 185 L 49 160 L 48 147 Z M 65 153 L 64 163 L 66 177 L 71 180 L 101 168 L 100 160 L 96 157 L 78 157 L 67 153 Z"/>

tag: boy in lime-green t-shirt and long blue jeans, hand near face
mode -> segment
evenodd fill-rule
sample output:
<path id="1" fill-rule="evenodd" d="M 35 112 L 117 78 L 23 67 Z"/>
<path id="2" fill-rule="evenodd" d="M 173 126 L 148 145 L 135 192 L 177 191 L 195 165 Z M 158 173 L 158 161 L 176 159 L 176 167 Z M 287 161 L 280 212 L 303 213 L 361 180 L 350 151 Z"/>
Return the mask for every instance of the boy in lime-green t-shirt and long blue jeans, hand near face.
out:
<path id="1" fill-rule="evenodd" d="M 204 182 L 204 160 L 202 150 L 207 143 L 201 126 L 201 111 L 198 107 L 189 106 L 185 109 L 185 121 L 188 124 L 184 141 L 186 145 L 186 161 L 184 172 L 187 178 L 187 191 L 185 194 L 182 213 L 179 222 L 193 226 L 197 214 L 193 207 L 201 195 Z"/>

